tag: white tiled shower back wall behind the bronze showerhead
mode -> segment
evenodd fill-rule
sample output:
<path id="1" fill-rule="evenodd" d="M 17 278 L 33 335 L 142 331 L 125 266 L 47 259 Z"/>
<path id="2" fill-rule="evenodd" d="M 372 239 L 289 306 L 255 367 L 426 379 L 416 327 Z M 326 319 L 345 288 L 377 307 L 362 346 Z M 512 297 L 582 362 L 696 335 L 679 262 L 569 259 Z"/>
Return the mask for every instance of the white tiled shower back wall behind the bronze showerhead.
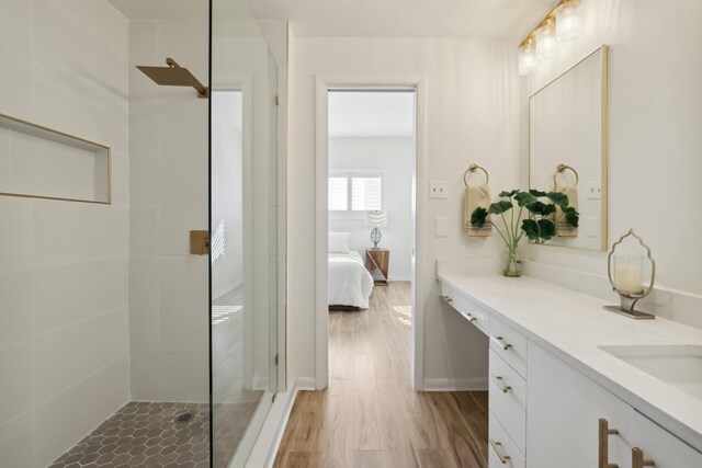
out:
<path id="1" fill-rule="evenodd" d="M 137 65 L 173 57 L 207 82 L 206 21 L 129 22 L 129 304 L 132 398 L 206 401 L 207 100 L 159 87 Z"/>

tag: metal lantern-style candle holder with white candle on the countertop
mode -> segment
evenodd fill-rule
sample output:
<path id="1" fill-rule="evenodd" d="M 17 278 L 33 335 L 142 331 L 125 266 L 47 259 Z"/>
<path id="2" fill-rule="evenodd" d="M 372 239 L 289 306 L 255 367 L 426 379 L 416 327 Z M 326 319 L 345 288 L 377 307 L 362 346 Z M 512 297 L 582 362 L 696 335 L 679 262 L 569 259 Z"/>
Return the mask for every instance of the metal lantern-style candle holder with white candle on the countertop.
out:
<path id="1" fill-rule="evenodd" d="M 650 284 L 646 289 L 644 283 L 644 256 L 643 255 L 614 255 L 616 246 L 627 237 L 633 237 L 638 243 L 646 249 L 646 258 L 650 261 Z M 612 262 L 612 259 L 614 262 Z M 614 263 L 614 276 L 612 277 L 612 263 Z M 656 316 L 636 310 L 635 306 L 639 299 L 648 296 L 654 290 L 654 281 L 656 279 L 656 262 L 650 256 L 650 249 L 644 243 L 644 240 L 636 236 L 633 229 L 630 229 L 616 242 L 612 244 L 607 256 L 607 275 L 610 278 L 612 290 L 620 296 L 620 306 L 604 306 L 605 310 L 621 313 L 632 319 L 653 320 Z"/>

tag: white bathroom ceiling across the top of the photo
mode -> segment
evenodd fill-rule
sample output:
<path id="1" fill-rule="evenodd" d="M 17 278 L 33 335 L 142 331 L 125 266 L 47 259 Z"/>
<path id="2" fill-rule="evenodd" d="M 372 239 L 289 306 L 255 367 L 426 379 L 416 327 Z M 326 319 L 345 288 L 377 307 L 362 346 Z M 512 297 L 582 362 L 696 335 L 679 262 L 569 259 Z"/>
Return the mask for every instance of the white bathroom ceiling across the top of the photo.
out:
<path id="1" fill-rule="evenodd" d="M 129 20 L 206 20 L 207 0 L 107 0 Z M 250 15 L 245 0 L 217 11 Z M 519 38 L 557 0 L 248 0 L 259 20 L 290 21 L 298 36 Z"/>

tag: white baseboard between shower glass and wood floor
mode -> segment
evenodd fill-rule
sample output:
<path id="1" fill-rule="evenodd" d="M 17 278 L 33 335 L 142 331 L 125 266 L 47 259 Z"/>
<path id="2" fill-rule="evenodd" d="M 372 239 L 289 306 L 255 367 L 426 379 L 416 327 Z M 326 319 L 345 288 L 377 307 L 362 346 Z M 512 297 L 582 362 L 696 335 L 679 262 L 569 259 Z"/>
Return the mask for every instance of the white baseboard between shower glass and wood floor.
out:
<path id="1" fill-rule="evenodd" d="M 275 456 L 283 441 L 285 425 L 293 411 L 295 399 L 299 390 L 314 390 L 315 379 L 310 377 L 298 377 L 295 379 L 293 388 L 288 391 L 280 392 L 269 410 L 265 422 L 261 427 L 259 437 L 253 444 L 251 455 L 246 464 L 246 468 L 271 468 L 275 463 Z"/>

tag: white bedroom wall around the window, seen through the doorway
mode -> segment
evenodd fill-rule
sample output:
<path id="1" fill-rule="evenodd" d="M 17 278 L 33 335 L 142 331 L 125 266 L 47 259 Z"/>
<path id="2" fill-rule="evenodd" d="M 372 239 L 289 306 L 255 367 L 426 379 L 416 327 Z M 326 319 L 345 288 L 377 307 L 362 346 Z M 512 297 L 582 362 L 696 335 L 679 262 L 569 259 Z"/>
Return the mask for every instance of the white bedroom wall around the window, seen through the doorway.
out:
<path id="1" fill-rule="evenodd" d="M 381 228 L 380 247 L 390 251 L 389 278 L 411 278 L 412 255 L 412 174 L 415 172 L 412 138 L 339 138 L 329 139 L 329 171 L 378 170 L 385 173 L 385 210 L 387 227 Z M 329 230 L 351 232 L 349 246 L 364 255 L 373 247 L 372 228 L 361 218 L 329 215 Z"/>

